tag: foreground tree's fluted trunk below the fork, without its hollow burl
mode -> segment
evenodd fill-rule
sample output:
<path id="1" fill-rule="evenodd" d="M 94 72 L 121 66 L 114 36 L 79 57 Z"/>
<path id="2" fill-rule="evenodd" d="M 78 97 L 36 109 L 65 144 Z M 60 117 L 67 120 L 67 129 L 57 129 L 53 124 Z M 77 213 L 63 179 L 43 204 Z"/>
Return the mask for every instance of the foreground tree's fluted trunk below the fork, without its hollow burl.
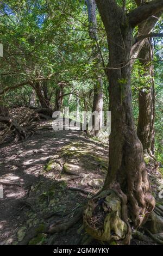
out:
<path id="1" fill-rule="evenodd" d="M 130 27 L 118 26 L 118 22 L 117 32 L 112 33 L 112 39 L 119 42 L 121 47 L 117 49 L 117 45 L 108 40 L 111 134 L 109 171 L 104 188 L 114 187 L 117 182 L 120 184 L 121 190 L 128 196 L 128 214 L 132 224 L 139 227 L 153 210 L 154 199 L 150 194 L 142 145 L 136 135 L 131 107 L 129 59 L 132 31 Z"/>

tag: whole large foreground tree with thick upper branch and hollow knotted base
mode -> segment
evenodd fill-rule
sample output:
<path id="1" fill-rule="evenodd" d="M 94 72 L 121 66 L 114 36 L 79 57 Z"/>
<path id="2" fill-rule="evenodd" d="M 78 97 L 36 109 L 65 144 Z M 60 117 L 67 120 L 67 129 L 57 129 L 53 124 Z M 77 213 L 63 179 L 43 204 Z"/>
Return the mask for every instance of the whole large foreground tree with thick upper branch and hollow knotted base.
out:
<path id="1" fill-rule="evenodd" d="M 132 47 L 133 29 L 162 11 L 163 1 L 142 4 L 129 13 L 115 0 L 96 4 L 108 39 L 111 135 L 108 174 L 102 192 L 87 204 L 84 224 L 96 239 L 129 243 L 131 227 L 139 228 L 155 207 L 131 106 L 131 53 L 137 57 L 143 46 Z"/>

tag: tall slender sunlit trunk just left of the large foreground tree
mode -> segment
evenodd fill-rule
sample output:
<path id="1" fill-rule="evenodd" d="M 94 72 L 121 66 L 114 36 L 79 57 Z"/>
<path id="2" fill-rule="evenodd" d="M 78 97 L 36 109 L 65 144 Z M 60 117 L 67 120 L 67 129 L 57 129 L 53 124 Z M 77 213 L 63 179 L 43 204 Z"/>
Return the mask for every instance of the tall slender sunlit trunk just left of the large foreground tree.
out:
<path id="1" fill-rule="evenodd" d="M 93 62 L 96 62 L 95 67 L 98 68 L 101 65 L 101 55 L 99 48 L 97 46 L 98 33 L 97 33 L 97 20 L 96 20 L 96 2 L 95 0 L 86 0 L 87 12 L 89 19 L 89 34 L 92 39 L 92 57 Z M 93 95 L 93 107 L 92 112 L 98 112 L 98 120 L 95 119 L 93 115 L 92 118 L 92 127 L 95 132 L 95 135 L 98 135 L 99 131 L 102 128 L 102 110 L 103 110 L 103 81 L 102 78 L 98 76 L 98 72 L 95 74 L 95 84 L 94 84 L 94 95 Z M 97 125 L 96 123 L 97 122 Z M 95 130 L 95 127 L 99 127 L 98 130 Z"/>

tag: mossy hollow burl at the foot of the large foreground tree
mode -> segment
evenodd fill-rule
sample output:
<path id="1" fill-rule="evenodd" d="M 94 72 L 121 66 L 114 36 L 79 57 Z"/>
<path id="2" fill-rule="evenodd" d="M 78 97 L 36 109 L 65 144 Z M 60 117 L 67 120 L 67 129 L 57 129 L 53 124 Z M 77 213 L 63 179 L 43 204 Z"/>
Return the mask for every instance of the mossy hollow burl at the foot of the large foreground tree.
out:
<path id="1" fill-rule="evenodd" d="M 87 233 L 99 241 L 116 240 L 129 244 L 131 231 L 126 203 L 127 199 L 122 192 L 111 189 L 104 190 L 91 199 L 83 213 Z"/>

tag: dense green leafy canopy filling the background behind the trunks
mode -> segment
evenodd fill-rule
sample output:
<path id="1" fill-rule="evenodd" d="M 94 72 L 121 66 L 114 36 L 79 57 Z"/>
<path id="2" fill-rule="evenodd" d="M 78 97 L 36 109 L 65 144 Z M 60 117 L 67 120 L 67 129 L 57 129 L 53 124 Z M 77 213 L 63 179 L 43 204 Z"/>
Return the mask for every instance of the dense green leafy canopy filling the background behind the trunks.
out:
<path id="1" fill-rule="evenodd" d="M 123 1 L 117 1 L 122 6 Z M 126 9 L 135 8 L 134 1 L 127 1 Z M 0 33 L 4 47 L 1 58 L 1 92 L 8 107 L 28 106 L 34 83 L 46 81 L 51 106 L 55 105 L 55 90 L 62 83 L 64 102 L 76 110 L 79 97 L 80 110 L 92 109 L 93 84 L 99 72 L 104 81 L 104 106 L 109 106 L 108 81 L 103 67 L 108 63 L 108 47 L 103 23 L 97 11 L 98 44 L 102 57 L 101 67 L 96 68 L 92 59 L 92 41 L 89 36 L 85 1 L 2 1 L 0 4 Z M 137 28 L 135 28 L 135 33 Z M 162 32 L 162 20 L 154 32 Z M 162 155 L 162 40 L 153 39 L 155 80 L 155 149 L 156 157 Z M 138 92 L 147 87 L 149 77 L 142 76 L 139 61 L 132 71 L 134 117 L 137 124 Z M 13 89 L 11 89 L 13 88 Z M 72 98 L 70 93 L 73 92 Z M 39 101 L 36 100 L 38 104 Z"/>

